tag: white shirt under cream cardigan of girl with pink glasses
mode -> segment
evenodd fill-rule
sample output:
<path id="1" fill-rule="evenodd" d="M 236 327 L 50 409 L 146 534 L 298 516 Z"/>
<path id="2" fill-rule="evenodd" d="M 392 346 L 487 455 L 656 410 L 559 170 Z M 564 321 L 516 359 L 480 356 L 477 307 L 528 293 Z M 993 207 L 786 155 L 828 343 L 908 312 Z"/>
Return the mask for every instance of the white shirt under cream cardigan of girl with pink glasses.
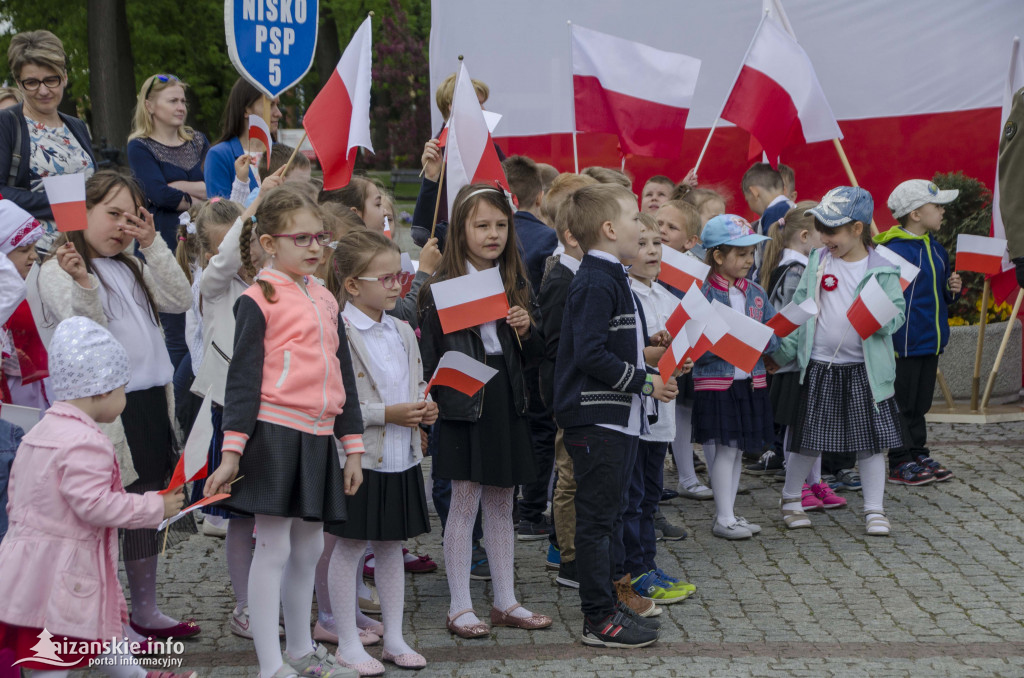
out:
<path id="1" fill-rule="evenodd" d="M 341 311 L 348 324 L 355 328 L 367 346 L 369 365 L 374 383 L 384 398 L 384 407 L 409 401 L 409 354 L 406 344 L 394 325 L 394 319 L 381 314 L 378 323 L 354 305 L 347 303 Z M 380 471 L 397 473 L 416 465 L 413 458 L 413 433 L 408 426 L 384 425 L 383 461 Z M 419 435 L 419 431 L 416 431 Z"/>

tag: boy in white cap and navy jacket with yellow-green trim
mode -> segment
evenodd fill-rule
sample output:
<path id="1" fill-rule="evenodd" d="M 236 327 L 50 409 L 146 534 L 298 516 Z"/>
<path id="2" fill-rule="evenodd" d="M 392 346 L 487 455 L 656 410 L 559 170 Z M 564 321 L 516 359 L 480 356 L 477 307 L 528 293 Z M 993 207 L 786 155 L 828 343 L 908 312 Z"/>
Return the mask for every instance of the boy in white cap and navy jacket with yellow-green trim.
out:
<path id="1" fill-rule="evenodd" d="M 948 305 L 963 288 L 961 277 L 949 268 L 945 249 L 932 235 L 942 225 L 942 206 L 958 194 L 939 190 L 925 179 L 904 181 L 889 196 L 889 209 L 899 225 L 874 238 L 921 268 L 903 292 L 906 323 L 893 335 L 896 401 L 908 433 L 904 436 L 907 447 L 889 451 L 889 482 L 896 484 L 919 485 L 953 477 L 928 451 L 925 415 L 932 407 L 939 354 L 949 340 Z"/>

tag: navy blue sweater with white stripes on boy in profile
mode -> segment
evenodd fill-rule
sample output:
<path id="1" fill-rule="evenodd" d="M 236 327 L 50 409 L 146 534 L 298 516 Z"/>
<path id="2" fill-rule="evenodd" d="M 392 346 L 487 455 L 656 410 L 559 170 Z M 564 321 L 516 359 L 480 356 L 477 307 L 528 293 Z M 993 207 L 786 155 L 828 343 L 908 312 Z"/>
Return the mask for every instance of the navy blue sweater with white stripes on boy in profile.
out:
<path id="1" fill-rule="evenodd" d="M 555 362 L 555 421 L 561 428 L 627 426 L 633 394 L 647 373 L 637 368 L 636 324 L 643 309 L 618 263 L 587 255 L 569 284 Z"/>

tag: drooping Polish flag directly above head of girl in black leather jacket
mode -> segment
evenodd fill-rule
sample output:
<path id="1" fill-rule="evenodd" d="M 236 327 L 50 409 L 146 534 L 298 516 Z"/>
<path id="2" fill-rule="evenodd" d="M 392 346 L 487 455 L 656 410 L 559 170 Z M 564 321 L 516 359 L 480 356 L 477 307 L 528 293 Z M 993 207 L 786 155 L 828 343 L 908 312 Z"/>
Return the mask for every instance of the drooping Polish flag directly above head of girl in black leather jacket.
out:
<path id="1" fill-rule="evenodd" d="M 459 189 L 470 183 L 488 183 L 511 195 L 465 61 L 459 67 L 447 128 L 444 179 L 449 214 L 455 213 L 455 198 Z"/>

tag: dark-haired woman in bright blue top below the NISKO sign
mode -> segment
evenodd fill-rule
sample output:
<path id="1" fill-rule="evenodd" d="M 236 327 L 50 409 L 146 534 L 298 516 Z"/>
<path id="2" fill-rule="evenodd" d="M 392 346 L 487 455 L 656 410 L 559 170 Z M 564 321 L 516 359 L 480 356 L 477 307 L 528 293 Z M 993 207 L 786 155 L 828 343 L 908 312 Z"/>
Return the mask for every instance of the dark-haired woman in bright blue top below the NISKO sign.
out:
<path id="1" fill-rule="evenodd" d="M 266 124 L 270 127 L 270 136 L 278 137 L 278 123 L 281 121 L 282 113 L 278 108 L 279 99 L 273 99 L 270 103 L 270 118 Z M 239 78 L 231 87 L 231 93 L 227 95 L 227 105 L 224 108 L 224 116 L 221 119 L 220 138 L 210 149 L 206 157 L 204 176 L 206 178 L 206 193 L 210 198 L 230 198 L 231 182 L 234 180 L 234 161 L 247 153 L 266 153 L 266 149 L 260 141 L 256 141 L 250 149 L 249 143 L 249 116 L 262 116 L 263 94 L 258 89 L 250 85 L 244 79 Z M 255 172 L 249 173 L 249 189 L 252 190 L 257 185 Z"/>

